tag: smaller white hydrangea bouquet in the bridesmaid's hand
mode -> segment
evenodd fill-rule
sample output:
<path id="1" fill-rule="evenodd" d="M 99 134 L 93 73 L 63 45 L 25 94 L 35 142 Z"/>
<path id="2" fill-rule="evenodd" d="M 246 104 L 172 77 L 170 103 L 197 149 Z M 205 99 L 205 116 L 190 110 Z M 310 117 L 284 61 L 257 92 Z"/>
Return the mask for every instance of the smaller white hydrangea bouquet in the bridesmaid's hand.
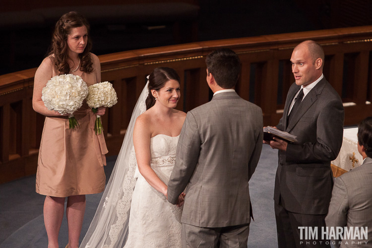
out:
<path id="1" fill-rule="evenodd" d="M 118 97 L 113 85 L 109 82 L 95 83 L 88 87 L 88 96 L 86 102 L 93 113 L 97 113 L 99 107 L 112 107 L 118 102 Z M 101 116 L 97 115 L 94 124 L 96 134 L 101 134 L 103 127 Z"/>

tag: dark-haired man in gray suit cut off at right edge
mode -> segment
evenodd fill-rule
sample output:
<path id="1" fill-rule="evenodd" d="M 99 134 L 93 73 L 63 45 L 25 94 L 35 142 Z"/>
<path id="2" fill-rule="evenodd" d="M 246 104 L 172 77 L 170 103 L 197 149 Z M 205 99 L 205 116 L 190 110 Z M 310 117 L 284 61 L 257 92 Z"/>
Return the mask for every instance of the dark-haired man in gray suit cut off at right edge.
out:
<path id="1" fill-rule="evenodd" d="M 358 151 L 363 157 L 363 164 L 336 178 L 325 223 L 328 230 L 332 228 L 336 231 L 337 227 L 344 230 L 347 227 L 348 231 L 353 228 L 360 232 L 361 227 L 368 227 L 368 233 L 361 240 L 353 237 L 348 239 L 342 233 L 346 239 L 339 240 L 336 237 L 336 248 L 372 246 L 372 117 L 359 124 Z"/>

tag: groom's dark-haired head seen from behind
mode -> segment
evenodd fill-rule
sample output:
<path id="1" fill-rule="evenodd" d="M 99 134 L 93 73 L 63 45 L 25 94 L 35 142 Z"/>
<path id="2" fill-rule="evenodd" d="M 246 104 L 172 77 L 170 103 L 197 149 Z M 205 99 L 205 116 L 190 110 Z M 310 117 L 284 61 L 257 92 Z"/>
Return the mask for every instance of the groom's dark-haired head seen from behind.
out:
<path id="1" fill-rule="evenodd" d="M 221 48 L 208 54 L 205 62 L 207 74 L 213 75 L 218 86 L 232 89 L 238 82 L 241 62 L 238 55 L 231 49 Z"/>

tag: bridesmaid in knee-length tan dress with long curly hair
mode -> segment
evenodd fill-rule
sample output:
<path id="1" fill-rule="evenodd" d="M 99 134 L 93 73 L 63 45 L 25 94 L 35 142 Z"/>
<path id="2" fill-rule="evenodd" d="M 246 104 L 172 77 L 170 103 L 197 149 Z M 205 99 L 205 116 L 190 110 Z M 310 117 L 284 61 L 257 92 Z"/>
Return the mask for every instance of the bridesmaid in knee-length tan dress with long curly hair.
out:
<path id="1" fill-rule="evenodd" d="M 48 248 L 58 248 L 58 235 L 67 197 L 68 248 L 78 248 L 84 212 L 85 194 L 99 193 L 105 187 L 107 148 L 103 134 L 96 135 L 96 114 L 85 103 L 74 112 L 80 127 L 69 129 L 68 116 L 50 111 L 41 99 L 42 89 L 53 76 L 79 75 L 87 86 L 101 81 L 101 66 L 90 53 L 89 24 L 76 13 L 62 15 L 52 38 L 51 52 L 35 74 L 32 104 L 36 112 L 46 116 L 40 144 L 36 192 L 46 195 L 44 223 Z"/>

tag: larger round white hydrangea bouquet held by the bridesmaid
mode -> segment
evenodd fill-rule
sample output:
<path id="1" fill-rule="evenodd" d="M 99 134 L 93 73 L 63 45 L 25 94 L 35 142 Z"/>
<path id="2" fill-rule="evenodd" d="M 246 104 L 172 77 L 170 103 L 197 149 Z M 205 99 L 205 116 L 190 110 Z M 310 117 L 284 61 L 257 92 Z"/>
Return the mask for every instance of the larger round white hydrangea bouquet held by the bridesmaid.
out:
<path id="1" fill-rule="evenodd" d="M 73 129 L 80 126 L 73 112 L 81 107 L 87 95 L 88 86 L 80 76 L 63 74 L 48 80 L 42 90 L 41 99 L 49 110 L 57 111 L 61 115 L 69 114 L 69 128 Z"/>

